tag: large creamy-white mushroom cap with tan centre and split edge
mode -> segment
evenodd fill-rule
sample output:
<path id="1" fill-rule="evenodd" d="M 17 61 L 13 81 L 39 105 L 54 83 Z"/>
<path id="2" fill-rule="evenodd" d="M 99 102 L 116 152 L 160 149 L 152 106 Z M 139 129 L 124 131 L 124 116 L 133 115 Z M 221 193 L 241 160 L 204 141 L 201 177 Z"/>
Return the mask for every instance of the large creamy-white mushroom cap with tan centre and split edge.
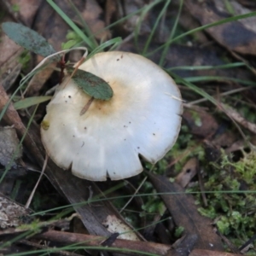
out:
<path id="1" fill-rule="evenodd" d="M 172 78 L 141 55 L 107 52 L 80 69 L 104 79 L 113 89 L 109 101 L 94 100 L 64 79 L 47 106 L 41 125 L 49 157 L 78 177 L 118 180 L 143 171 L 139 155 L 160 160 L 176 142 L 183 111 Z"/>

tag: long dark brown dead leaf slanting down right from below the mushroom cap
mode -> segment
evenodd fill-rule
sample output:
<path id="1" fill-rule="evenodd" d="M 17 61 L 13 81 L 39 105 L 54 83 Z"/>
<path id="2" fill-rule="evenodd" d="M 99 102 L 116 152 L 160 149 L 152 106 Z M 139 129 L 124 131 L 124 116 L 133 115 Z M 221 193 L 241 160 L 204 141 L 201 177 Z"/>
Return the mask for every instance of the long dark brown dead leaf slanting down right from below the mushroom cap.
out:
<path id="1" fill-rule="evenodd" d="M 175 224 L 182 226 L 185 234 L 198 236 L 195 248 L 223 250 L 221 239 L 213 231 L 211 219 L 201 216 L 191 195 L 183 194 L 184 190 L 177 183 L 171 183 L 167 177 L 152 173 L 148 173 L 148 177 L 157 192 L 164 193 L 160 197 L 165 202 Z"/>

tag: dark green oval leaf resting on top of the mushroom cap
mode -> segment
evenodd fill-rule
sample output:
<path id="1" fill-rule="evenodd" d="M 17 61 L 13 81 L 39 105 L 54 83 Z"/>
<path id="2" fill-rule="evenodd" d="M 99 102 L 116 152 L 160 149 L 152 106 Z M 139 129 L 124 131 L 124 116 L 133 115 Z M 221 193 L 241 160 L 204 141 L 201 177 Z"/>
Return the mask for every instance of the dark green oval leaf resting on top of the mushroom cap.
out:
<path id="1" fill-rule="evenodd" d="M 72 74 L 73 70 L 73 68 L 67 68 L 67 73 Z M 72 79 L 85 93 L 98 100 L 108 101 L 113 96 L 113 90 L 109 84 L 93 73 L 78 69 Z"/>

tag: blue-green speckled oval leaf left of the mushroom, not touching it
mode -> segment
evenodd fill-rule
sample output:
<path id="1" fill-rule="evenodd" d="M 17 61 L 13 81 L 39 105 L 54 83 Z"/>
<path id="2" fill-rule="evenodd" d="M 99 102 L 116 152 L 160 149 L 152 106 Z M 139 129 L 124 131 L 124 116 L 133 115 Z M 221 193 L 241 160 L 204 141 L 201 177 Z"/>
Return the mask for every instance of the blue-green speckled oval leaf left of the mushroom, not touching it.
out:
<path id="1" fill-rule="evenodd" d="M 4 22 L 2 28 L 3 32 L 5 32 L 9 38 L 15 41 L 16 44 L 19 44 L 37 55 L 47 57 L 55 54 L 56 52 L 45 38 L 27 26 L 23 26 L 15 22 Z M 60 60 L 59 56 L 55 56 L 54 58 L 55 61 Z"/>

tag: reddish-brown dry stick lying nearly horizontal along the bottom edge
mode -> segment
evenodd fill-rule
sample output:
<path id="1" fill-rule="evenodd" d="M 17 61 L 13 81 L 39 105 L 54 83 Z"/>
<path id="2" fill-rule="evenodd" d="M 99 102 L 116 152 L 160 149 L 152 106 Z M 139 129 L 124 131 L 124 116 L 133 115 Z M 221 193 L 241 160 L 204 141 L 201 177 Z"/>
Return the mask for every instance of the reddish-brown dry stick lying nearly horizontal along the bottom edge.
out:
<path id="1" fill-rule="evenodd" d="M 55 230 L 46 231 L 43 234 L 35 236 L 39 239 L 56 241 L 65 244 L 73 244 L 73 243 L 81 243 L 80 245 L 90 246 L 90 247 L 101 247 L 101 250 L 104 250 L 104 247 L 101 246 L 102 241 L 106 240 L 104 236 L 90 236 L 84 234 L 76 234 L 76 233 L 67 233 Z M 157 255 L 166 255 L 166 253 L 172 248 L 170 245 L 154 243 L 154 242 L 146 242 L 146 241 L 131 241 L 131 240 L 122 240 L 117 239 L 113 242 L 111 247 L 109 248 L 119 248 L 122 253 L 129 255 L 137 255 L 136 253 L 126 252 L 125 249 L 128 250 L 137 250 L 143 253 L 154 253 Z M 116 252 L 116 251 L 113 251 Z M 169 254 L 170 256 L 174 254 Z"/>

